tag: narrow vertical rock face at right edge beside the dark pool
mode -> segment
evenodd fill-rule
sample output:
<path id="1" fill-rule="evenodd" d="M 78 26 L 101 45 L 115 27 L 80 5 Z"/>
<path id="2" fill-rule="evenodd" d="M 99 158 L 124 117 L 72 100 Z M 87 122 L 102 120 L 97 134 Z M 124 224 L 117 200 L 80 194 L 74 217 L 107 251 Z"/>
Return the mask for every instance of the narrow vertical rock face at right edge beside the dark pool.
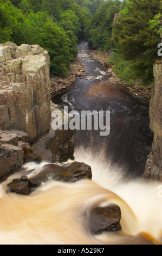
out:
<path id="1" fill-rule="evenodd" d="M 141 179 L 162 181 L 162 63 L 154 64 L 154 87 L 150 101 L 150 128 L 154 132 L 152 151 Z"/>

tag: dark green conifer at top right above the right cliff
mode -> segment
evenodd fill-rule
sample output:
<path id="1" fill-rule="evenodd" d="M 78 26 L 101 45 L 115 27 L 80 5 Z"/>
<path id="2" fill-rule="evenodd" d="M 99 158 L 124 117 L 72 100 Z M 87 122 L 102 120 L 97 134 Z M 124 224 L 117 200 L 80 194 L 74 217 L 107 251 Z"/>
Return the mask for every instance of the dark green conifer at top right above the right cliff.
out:
<path id="1" fill-rule="evenodd" d="M 114 23 L 116 50 L 122 59 L 133 61 L 134 74 L 144 83 L 153 81 L 153 63 L 160 41 L 160 0 L 132 0 Z"/>

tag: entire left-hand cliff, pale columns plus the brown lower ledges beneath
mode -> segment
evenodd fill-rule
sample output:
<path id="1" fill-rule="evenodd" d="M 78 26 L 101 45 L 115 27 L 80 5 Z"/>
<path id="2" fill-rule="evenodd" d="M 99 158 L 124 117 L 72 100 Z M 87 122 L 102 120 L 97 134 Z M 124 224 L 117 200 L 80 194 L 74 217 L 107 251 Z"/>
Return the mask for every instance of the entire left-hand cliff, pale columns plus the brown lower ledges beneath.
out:
<path id="1" fill-rule="evenodd" d="M 0 54 L 0 181 L 29 161 L 73 158 L 73 133 L 51 129 L 48 52 L 6 42 Z"/>

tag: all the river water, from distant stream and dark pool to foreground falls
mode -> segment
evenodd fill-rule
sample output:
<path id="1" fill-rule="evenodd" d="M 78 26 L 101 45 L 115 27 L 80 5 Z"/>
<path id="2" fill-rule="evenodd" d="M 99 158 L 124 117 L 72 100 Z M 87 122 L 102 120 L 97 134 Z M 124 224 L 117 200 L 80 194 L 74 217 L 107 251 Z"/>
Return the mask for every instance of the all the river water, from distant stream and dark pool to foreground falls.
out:
<path id="1" fill-rule="evenodd" d="M 158 184 L 139 179 L 152 143 L 148 103 L 111 83 L 87 46 L 86 42 L 79 45 L 79 58 L 86 65 L 87 77 L 78 79 L 53 101 L 79 112 L 111 112 L 108 136 L 100 136 L 95 130 L 75 131 L 75 160 L 92 167 L 92 181 L 69 184 L 53 180 L 30 196 L 6 193 L 10 180 L 21 175 L 32 178 L 44 163 L 25 164 L 20 173 L 2 184 L 1 244 L 162 243 L 162 198 L 158 196 Z M 122 231 L 94 236 L 87 229 L 85 214 L 92 206 L 107 202 L 120 206 Z"/>

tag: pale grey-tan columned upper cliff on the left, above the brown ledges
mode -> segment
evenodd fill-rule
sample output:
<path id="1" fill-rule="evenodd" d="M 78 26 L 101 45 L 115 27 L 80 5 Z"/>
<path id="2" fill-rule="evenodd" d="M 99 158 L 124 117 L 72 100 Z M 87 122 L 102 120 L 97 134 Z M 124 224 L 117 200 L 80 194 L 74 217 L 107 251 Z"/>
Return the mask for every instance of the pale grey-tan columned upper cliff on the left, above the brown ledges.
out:
<path id="1" fill-rule="evenodd" d="M 0 57 L 0 129 L 29 141 L 50 129 L 49 54 L 39 45 L 6 42 Z"/>

